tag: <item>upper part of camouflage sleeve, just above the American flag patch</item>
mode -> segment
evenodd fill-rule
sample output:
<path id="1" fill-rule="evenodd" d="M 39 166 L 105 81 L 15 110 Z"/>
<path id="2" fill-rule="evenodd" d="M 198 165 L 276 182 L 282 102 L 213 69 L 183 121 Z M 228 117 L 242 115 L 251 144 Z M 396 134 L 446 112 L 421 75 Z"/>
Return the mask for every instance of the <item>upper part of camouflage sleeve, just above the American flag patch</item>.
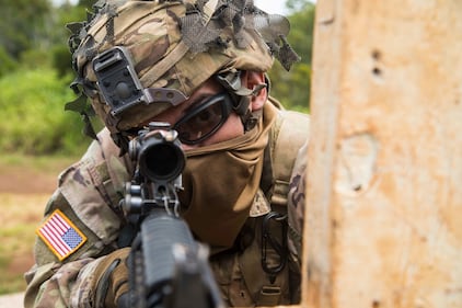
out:
<path id="1" fill-rule="evenodd" d="M 107 244 L 120 228 L 117 206 L 129 173 L 108 132 L 97 137 L 82 159 L 59 175 L 58 191 L 77 219 Z"/>

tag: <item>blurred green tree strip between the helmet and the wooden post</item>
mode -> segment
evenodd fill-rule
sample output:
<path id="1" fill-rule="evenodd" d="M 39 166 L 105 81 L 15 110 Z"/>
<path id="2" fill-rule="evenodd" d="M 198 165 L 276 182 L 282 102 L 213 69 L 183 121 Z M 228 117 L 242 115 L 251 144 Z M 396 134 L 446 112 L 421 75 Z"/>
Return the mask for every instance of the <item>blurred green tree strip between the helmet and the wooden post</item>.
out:
<path id="1" fill-rule="evenodd" d="M 311 55 L 314 26 L 314 4 L 308 0 L 288 0 L 290 21 L 289 43 L 301 57 L 301 61 L 287 72 L 275 61 L 269 78 L 273 82 L 270 93 L 287 109 L 309 111 L 311 87 Z"/>

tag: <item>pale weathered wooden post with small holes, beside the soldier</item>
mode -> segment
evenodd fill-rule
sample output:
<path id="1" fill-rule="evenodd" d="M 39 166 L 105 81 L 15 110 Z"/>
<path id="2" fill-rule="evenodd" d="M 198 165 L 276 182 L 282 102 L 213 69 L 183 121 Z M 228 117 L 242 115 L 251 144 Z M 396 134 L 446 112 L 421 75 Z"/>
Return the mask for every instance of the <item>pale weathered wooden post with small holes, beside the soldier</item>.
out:
<path id="1" fill-rule="evenodd" d="M 317 0 L 302 307 L 462 307 L 462 1 Z"/>

